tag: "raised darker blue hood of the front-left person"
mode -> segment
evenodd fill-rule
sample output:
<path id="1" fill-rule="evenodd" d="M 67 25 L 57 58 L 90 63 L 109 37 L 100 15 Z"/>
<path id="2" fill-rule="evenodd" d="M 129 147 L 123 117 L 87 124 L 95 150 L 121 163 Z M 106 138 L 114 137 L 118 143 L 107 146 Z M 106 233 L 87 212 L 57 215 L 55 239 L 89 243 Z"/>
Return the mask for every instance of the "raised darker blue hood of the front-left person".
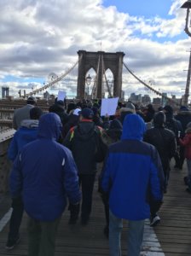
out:
<path id="1" fill-rule="evenodd" d="M 56 113 L 44 113 L 39 119 L 38 137 L 58 140 L 61 136 L 61 119 Z"/>

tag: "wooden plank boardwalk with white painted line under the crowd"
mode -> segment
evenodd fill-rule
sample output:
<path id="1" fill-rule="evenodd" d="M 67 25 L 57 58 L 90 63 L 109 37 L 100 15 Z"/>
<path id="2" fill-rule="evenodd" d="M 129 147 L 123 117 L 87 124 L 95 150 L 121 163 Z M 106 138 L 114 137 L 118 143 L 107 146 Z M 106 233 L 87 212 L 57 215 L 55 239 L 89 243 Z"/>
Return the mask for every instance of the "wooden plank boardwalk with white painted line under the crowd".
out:
<path id="1" fill-rule="evenodd" d="M 161 223 L 153 228 L 146 221 L 142 255 L 147 256 L 190 256 L 191 255 L 191 195 L 185 192 L 183 177 L 186 175 L 186 165 L 183 170 L 171 170 L 171 179 L 164 204 L 159 211 Z M 9 211 L 10 199 L 5 196 L 0 201 L 0 218 Z M 100 195 L 97 193 L 97 183 L 94 191 L 94 205 L 90 222 L 82 226 L 80 222 L 69 225 L 68 211 L 64 212 L 56 239 L 55 256 L 104 256 L 108 255 L 108 241 L 103 234 L 105 225 L 104 211 Z M 4 246 L 7 240 L 8 224 L 3 230 L 0 226 L 0 255 L 27 255 L 27 216 L 24 215 L 20 227 L 20 244 L 14 250 L 7 251 Z M 0 221 L 1 222 L 1 221 Z M 126 255 L 127 223 L 124 222 L 122 233 L 122 255 Z M 38 255 L 37 255 L 38 256 Z M 46 256 L 46 255 L 44 255 Z"/>

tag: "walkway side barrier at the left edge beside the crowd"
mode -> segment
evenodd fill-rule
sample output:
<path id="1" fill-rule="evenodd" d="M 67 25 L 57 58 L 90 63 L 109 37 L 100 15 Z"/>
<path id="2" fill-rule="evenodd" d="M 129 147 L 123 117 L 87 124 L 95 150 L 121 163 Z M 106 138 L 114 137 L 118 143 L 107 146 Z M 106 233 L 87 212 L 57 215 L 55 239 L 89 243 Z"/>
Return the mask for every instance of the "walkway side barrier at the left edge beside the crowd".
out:
<path id="1" fill-rule="evenodd" d="M 8 179 L 11 161 L 7 157 L 7 151 L 14 132 L 14 129 L 0 132 L 0 195 L 6 193 L 9 189 Z"/>

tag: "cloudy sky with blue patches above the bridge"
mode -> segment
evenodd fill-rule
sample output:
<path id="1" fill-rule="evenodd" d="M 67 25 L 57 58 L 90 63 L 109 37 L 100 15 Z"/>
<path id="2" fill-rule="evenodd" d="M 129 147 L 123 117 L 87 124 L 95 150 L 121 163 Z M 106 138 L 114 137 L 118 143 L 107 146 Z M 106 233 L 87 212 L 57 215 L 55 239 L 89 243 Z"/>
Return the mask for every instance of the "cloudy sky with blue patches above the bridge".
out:
<path id="1" fill-rule="evenodd" d="M 0 86 L 18 96 L 19 89 L 30 92 L 49 83 L 52 74 L 66 73 L 78 61 L 79 49 L 123 51 L 124 63 L 139 78 L 180 97 L 191 46 L 184 32 L 186 9 L 180 9 L 184 2 L 1 0 Z M 55 90 L 75 95 L 77 73 L 76 67 Z M 150 93 L 125 69 L 123 90 L 125 96 Z"/>

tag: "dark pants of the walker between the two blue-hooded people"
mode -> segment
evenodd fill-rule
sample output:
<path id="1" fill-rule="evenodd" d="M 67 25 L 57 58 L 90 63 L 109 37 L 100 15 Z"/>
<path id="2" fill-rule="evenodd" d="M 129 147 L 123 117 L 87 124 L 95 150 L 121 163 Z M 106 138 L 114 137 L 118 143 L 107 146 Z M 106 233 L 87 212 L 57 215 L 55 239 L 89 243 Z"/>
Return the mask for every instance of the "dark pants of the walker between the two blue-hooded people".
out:
<path id="1" fill-rule="evenodd" d="M 90 216 L 95 179 L 96 173 L 79 174 L 79 184 L 82 186 L 81 218 L 84 219 Z"/>

